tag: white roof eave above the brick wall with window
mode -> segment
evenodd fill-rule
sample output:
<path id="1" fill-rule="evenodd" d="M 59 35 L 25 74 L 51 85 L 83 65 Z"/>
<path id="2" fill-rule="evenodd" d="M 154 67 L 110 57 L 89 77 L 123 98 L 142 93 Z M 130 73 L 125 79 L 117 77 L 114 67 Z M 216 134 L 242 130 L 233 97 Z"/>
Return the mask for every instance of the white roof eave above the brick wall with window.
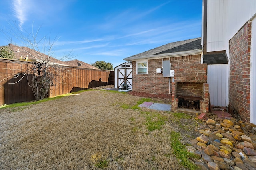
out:
<path id="1" fill-rule="evenodd" d="M 157 54 L 157 55 L 146 55 L 146 56 L 139 56 L 139 57 L 127 57 L 124 58 L 126 61 L 136 61 L 140 59 L 162 59 L 165 57 L 179 57 L 184 55 L 196 55 L 201 54 L 202 49 L 195 49 L 195 50 L 189 50 L 189 51 L 179 51 L 174 53 L 164 53 L 164 54 Z"/>

